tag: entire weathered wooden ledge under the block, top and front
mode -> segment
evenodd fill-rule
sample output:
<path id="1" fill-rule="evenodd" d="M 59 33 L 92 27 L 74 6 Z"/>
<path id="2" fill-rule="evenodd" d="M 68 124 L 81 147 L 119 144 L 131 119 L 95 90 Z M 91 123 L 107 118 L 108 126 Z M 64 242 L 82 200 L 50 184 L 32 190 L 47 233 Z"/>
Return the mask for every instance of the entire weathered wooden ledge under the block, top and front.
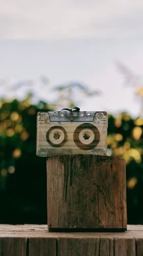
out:
<path id="1" fill-rule="evenodd" d="M 0 256 L 143 256 L 143 226 L 123 233 L 51 233 L 46 225 L 0 225 Z"/>

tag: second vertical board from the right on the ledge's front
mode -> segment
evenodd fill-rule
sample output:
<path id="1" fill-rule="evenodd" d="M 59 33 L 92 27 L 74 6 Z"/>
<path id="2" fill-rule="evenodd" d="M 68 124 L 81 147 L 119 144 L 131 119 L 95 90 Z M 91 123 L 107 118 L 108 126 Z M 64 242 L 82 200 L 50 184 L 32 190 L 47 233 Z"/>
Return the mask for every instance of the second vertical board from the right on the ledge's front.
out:
<path id="1" fill-rule="evenodd" d="M 114 256 L 135 256 L 135 239 L 115 238 L 114 253 Z"/>

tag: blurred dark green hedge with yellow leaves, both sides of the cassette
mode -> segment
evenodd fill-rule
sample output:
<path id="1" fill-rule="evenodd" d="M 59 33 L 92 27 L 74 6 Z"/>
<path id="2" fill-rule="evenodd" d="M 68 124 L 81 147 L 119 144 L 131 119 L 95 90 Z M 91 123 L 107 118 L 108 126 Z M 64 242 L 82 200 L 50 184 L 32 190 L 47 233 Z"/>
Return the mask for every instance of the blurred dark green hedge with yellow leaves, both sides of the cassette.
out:
<path id="1" fill-rule="evenodd" d="M 46 159 L 36 156 L 36 117 L 42 101 L 0 101 L 0 222 L 47 223 Z M 108 154 L 127 163 L 128 223 L 143 223 L 143 119 L 127 113 L 108 119 Z"/>

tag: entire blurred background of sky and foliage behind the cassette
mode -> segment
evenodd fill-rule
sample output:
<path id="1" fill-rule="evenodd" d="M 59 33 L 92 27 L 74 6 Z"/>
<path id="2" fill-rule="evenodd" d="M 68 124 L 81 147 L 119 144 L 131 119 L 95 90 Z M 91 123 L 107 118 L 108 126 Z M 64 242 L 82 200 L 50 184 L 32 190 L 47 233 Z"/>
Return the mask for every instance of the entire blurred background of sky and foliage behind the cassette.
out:
<path id="1" fill-rule="evenodd" d="M 143 223 L 143 2 L 1 1 L 0 223 L 47 223 L 38 111 L 107 111 L 127 164 L 128 224 Z"/>

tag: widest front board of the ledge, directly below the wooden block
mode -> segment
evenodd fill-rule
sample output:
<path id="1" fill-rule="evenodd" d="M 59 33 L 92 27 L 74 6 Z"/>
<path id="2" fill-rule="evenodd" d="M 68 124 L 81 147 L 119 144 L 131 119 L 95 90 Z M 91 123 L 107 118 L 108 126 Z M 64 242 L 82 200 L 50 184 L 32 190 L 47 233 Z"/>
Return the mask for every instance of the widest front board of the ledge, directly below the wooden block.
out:
<path id="1" fill-rule="evenodd" d="M 58 239 L 58 256 L 99 256 L 100 239 Z M 104 256 L 104 255 L 103 255 Z"/>

